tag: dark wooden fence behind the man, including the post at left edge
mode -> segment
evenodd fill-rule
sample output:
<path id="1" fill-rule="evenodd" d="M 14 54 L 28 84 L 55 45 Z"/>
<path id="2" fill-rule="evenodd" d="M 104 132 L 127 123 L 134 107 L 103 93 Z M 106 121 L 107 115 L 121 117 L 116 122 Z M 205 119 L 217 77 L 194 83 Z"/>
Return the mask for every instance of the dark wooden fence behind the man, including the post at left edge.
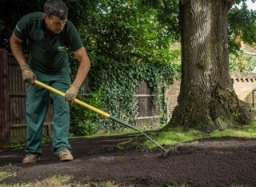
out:
<path id="1" fill-rule="evenodd" d="M 12 54 L 0 50 L 1 77 L 1 139 L 0 147 L 14 141 L 26 140 L 26 84 L 22 72 Z M 52 134 L 53 105 L 46 114 L 43 133 Z"/>

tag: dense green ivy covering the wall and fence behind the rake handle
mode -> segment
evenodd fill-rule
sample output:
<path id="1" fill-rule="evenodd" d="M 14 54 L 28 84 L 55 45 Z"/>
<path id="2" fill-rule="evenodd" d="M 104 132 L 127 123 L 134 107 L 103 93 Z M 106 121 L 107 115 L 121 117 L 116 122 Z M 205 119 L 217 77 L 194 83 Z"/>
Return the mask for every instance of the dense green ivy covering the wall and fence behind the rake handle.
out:
<path id="1" fill-rule="evenodd" d="M 141 82 L 147 82 L 152 90 L 153 103 L 158 106 L 161 113 L 162 123 L 166 123 L 166 102 L 164 92 L 174 78 L 177 76 L 179 66 L 173 63 L 121 63 L 116 61 L 98 62 L 93 64 L 88 76 L 89 84 L 84 86 L 84 90 L 90 94 L 84 98 L 88 104 L 100 107 L 103 111 L 128 122 L 135 124 L 135 100 L 134 94 Z M 83 91 L 81 94 L 84 95 Z M 73 107 L 74 109 L 74 107 Z M 82 117 L 78 112 L 79 106 L 75 106 L 74 113 L 71 113 L 76 124 L 88 123 L 92 120 L 98 123 L 98 129 L 103 128 L 114 130 L 120 125 L 104 117 L 95 116 L 88 119 L 88 114 Z M 81 109 L 81 111 L 84 109 Z M 86 119 L 86 120 L 83 120 Z M 97 128 L 96 128 L 97 129 Z"/>

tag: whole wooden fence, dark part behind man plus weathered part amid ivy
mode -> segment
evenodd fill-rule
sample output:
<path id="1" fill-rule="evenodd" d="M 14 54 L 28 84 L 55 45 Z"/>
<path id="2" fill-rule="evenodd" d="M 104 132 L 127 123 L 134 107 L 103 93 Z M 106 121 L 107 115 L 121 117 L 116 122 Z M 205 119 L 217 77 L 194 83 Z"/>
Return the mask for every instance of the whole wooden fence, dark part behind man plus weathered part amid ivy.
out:
<path id="1" fill-rule="evenodd" d="M 0 50 L 0 147 L 14 141 L 26 141 L 26 84 L 22 82 L 22 72 L 12 54 Z M 153 105 L 150 86 L 142 82 L 134 95 L 136 125 L 156 125 L 160 123 L 158 107 Z M 46 136 L 52 134 L 53 105 L 50 104 L 43 127 Z"/>

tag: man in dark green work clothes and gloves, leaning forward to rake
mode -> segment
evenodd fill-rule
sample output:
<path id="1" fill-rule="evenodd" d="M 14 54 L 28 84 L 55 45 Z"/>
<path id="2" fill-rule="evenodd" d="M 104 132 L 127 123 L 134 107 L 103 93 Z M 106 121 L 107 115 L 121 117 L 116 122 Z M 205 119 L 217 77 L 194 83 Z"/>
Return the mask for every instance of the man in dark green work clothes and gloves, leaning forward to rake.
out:
<path id="1" fill-rule="evenodd" d="M 67 20 L 67 7 L 61 0 L 47 0 L 44 13 L 24 16 L 14 29 L 10 47 L 22 70 L 22 78 L 28 82 L 26 96 L 26 157 L 23 164 L 34 163 L 42 154 L 42 125 L 48 109 L 50 92 L 34 85 L 34 80 L 44 82 L 65 92 L 65 99 L 52 94 L 54 103 L 53 147 L 59 161 L 72 161 L 68 141 L 70 127 L 70 103 L 90 70 L 90 60 L 74 25 Z M 30 59 L 26 63 L 21 42 L 28 40 Z M 80 62 L 74 82 L 70 81 L 67 48 Z"/>

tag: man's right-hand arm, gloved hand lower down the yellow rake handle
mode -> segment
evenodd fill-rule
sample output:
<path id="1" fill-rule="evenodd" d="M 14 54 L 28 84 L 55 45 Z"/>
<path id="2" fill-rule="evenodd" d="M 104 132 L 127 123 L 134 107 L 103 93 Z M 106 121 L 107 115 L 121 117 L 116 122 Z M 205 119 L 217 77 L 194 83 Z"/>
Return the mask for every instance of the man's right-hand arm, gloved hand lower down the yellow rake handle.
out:
<path id="1" fill-rule="evenodd" d="M 84 82 L 84 80 L 86 79 L 86 76 L 90 70 L 90 60 L 84 47 L 81 47 L 79 50 L 74 51 L 74 55 L 78 59 L 80 65 L 78 67 L 78 72 L 74 79 L 74 82 L 65 94 L 65 100 L 70 101 L 71 104 L 74 103 L 74 99 L 78 95 L 79 88 L 82 85 L 82 82 Z"/>

